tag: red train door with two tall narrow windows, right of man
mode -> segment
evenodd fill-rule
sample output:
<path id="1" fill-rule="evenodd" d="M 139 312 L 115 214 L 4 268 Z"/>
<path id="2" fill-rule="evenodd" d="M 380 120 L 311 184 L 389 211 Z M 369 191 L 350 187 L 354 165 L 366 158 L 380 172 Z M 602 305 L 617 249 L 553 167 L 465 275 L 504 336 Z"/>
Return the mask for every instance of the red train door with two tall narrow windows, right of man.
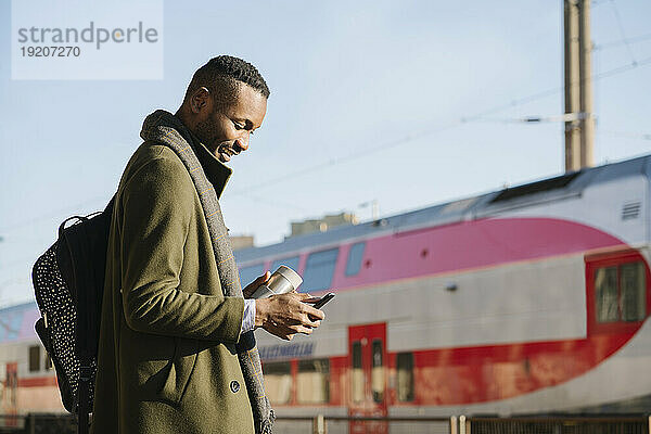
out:
<path id="1" fill-rule="evenodd" d="M 386 323 L 348 328 L 348 416 L 386 417 Z M 386 422 L 350 422 L 350 434 L 388 433 Z"/>

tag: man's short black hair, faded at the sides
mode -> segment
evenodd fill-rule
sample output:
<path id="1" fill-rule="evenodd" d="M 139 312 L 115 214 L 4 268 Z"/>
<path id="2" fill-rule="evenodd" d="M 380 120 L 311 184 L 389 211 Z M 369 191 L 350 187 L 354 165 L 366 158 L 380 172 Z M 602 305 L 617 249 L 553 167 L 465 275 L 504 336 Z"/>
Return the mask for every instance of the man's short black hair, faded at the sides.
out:
<path id="1" fill-rule="evenodd" d="M 251 86 L 265 98 L 269 98 L 271 93 L 261 74 L 251 63 L 232 55 L 218 55 L 196 69 L 190 86 L 188 86 L 186 100 L 196 89 L 205 87 L 216 100 L 232 101 L 238 89 L 238 81 Z"/>

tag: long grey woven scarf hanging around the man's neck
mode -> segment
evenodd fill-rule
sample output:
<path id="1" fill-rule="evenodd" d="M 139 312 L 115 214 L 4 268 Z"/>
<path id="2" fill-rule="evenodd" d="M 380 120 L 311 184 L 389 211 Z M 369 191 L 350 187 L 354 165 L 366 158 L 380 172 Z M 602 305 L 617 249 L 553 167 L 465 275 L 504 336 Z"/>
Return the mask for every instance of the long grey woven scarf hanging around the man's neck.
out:
<path id="1" fill-rule="evenodd" d="M 206 178 L 196 156 L 196 146 L 202 146 L 202 144 L 194 140 L 188 128 L 177 117 L 164 110 L 158 110 L 144 119 L 140 137 L 169 146 L 186 165 L 199 193 L 208 225 L 208 232 L 213 239 L 213 251 L 217 260 L 217 270 L 224 295 L 241 297 L 240 273 L 228 237 L 225 237 L 227 229 L 221 217 L 217 193 Z M 269 434 L 271 433 L 275 416 L 265 395 L 260 357 L 255 345 L 253 331 L 240 336 L 237 349 L 246 390 L 248 391 L 248 400 L 253 409 L 255 431 L 258 434 Z"/>

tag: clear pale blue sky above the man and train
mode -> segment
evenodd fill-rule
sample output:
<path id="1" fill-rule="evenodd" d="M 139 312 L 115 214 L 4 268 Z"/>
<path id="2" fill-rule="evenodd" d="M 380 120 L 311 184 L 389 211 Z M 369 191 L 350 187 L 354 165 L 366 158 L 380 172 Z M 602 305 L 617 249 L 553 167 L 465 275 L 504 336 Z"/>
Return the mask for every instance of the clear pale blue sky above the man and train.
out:
<path id="1" fill-rule="evenodd" d="M 622 39 L 615 9 L 627 38 L 651 33 L 651 2 L 595 2 L 595 74 L 651 58 L 649 37 L 610 44 Z M 58 224 L 103 207 L 144 116 L 175 111 L 217 54 L 251 61 L 272 90 L 222 200 L 231 231 L 258 244 L 282 240 L 291 220 L 368 219 L 358 205 L 370 200 L 388 215 L 563 170 L 562 124 L 459 122 L 562 87 L 561 0 L 166 1 L 165 78 L 154 81 L 13 81 L 9 0 L 0 16 L 0 305 L 31 298 L 31 264 Z M 638 137 L 651 133 L 649 95 L 649 64 L 595 84 L 598 164 L 651 151 Z M 562 107 L 558 91 L 490 117 Z"/>

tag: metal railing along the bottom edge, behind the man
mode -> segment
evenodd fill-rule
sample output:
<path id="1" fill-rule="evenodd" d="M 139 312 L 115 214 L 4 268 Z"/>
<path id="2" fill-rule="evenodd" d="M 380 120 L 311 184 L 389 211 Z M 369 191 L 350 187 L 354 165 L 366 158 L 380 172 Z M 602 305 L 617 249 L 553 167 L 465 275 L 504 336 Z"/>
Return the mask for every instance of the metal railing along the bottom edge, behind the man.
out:
<path id="1" fill-rule="evenodd" d="M 651 417 L 484 418 L 349 418 L 343 416 L 279 417 L 282 434 L 651 434 Z M 75 434 L 72 414 L 0 414 L 2 434 Z"/>

